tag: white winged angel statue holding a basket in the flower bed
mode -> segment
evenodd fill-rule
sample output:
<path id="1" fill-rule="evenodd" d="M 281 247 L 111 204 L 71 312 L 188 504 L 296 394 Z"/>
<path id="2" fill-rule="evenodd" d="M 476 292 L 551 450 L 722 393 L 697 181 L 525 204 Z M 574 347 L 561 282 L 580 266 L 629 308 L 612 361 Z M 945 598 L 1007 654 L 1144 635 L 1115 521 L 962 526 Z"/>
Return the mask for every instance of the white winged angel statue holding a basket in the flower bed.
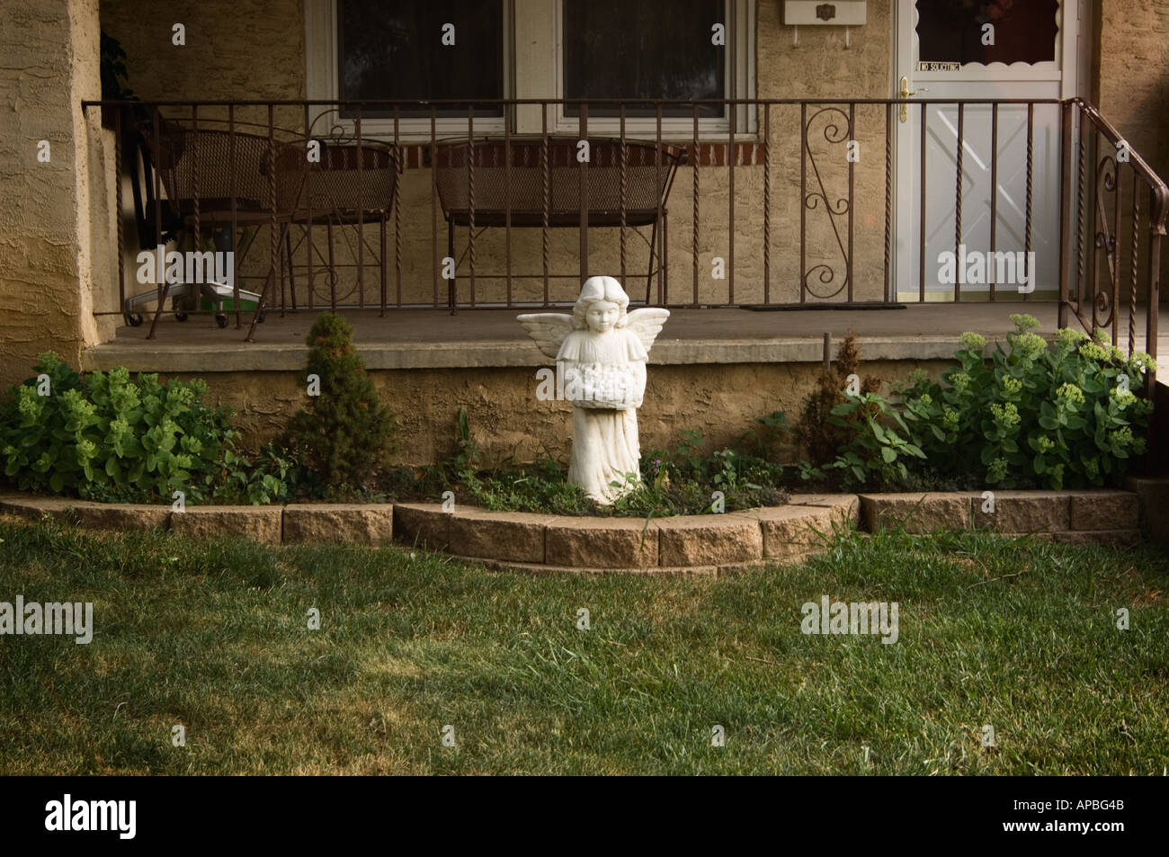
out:
<path id="1" fill-rule="evenodd" d="M 629 296 L 613 277 L 589 277 L 573 315 L 518 316 L 540 351 L 556 361 L 556 386 L 573 403 L 568 481 L 608 505 L 641 481 L 637 408 L 645 361 L 669 310 L 627 312 Z"/>

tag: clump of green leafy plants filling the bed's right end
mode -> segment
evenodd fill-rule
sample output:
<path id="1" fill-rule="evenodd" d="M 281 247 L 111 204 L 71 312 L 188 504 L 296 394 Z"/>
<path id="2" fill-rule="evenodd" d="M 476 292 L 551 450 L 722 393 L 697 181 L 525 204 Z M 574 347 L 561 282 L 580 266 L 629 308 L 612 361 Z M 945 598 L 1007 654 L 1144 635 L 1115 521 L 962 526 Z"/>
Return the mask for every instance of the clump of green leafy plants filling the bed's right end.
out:
<path id="1" fill-rule="evenodd" d="M 842 394 L 823 420 L 836 434 L 814 435 L 821 445 L 841 440 L 836 457 L 802 463 L 802 478 L 832 482 L 835 474 L 845 485 L 890 490 L 1119 484 L 1144 451 L 1153 403 L 1133 391 L 1143 388 L 1150 358 L 1129 359 L 1102 332 L 1093 339 L 1061 330 L 1049 345 L 1031 316 L 1011 320 L 1007 348 L 989 358 L 982 336 L 963 333 L 941 383 L 919 371 L 894 387 L 897 402 L 864 387 Z M 831 389 L 822 379 L 811 395 L 805 436 L 808 416 L 821 419 Z"/>

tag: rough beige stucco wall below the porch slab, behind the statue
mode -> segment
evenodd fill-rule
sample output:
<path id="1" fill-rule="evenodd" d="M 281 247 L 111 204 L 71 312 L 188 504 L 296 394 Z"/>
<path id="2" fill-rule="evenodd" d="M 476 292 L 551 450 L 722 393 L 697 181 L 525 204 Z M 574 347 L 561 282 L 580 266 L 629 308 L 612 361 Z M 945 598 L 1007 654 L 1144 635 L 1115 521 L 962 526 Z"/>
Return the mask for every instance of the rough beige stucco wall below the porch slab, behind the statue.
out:
<path id="1" fill-rule="evenodd" d="M 941 360 L 873 360 L 865 374 L 886 381 L 916 367 L 938 376 Z M 682 429 L 701 429 L 707 449 L 735 442 L 754 420 L 783 410 L 795 423 L 819 364 L 650 366 L 645 403 L 637 412 L 642 449 L 672 448 Z M 455 420 L 466 408 L 476 441 L 498 456 L 519 461 L 547 451 L 567 461 L 572 406 L 535 398 L 533 368 L 404 369 L 369 373 L 401 427 L 397 461 L 421 465 L 455 449 Z M 177 375 L 187 378 L 187 375 Z M 247 443 L 255 448 L 277 434 L 306 402 L 295 372 L 206 373 L 208 400 L 236 410 Z M 523 415 L 523 416 L 517 416 Z"/>

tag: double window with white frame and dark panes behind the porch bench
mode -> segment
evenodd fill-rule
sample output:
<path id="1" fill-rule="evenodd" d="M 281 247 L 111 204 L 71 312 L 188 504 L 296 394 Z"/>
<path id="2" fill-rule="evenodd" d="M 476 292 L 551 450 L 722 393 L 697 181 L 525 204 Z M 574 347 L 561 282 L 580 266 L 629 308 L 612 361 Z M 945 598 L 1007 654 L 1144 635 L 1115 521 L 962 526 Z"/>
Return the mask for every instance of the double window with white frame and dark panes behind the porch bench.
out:
<path id="1" fill-rule="evenodd" d="M 754 0 L 305 0 L 307 97 L 362 99 L 590 99 L 589 136 L 616 136 L 620 110 L 603 98 L 754 96 Z M 454 44 L 443 44 L 444 25 Z M 722 44 L 715 44 L 721 25 Z M 316 116 L 328 112 L 321 108 Z M 330 117 L 353 132 L 357 110 Z M 691 106 L 663 106 L 662 134 L 689 139 Z M 754 111 L 701 105 L 699 132 L 749 133 Z M 393 111 L 361 109 L 361 131 L 389 137 Z M 403 140 L 430 138 L 430 108 L 399 109 Z M 518 105 L 516 133 L 573 133 L 575 106 Z M 316 127 L 326 119 L 316 122 Z M 466 109 L 436 111 L 437 137 L 466 133 Z M 625 110 L 629 137 L 656 133 L 652 105 Z M 475 134 L 504 132 L 503 108 L 475 110 Z"/>

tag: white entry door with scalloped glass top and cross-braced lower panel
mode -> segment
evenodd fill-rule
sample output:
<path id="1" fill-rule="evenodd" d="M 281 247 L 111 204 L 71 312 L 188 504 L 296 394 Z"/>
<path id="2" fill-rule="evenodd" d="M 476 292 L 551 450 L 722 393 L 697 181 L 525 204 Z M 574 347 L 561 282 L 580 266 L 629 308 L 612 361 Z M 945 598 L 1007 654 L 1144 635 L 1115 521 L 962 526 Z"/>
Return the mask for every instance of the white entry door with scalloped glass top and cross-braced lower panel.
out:
<path id="1" fill-rule="evenodd" d="M 893 97 L 902 91 L 928 101 L 1074 97 L 1087 6 L 1086 0 L 897 0 Z M 1060 106 L 909 104 L 894 110 L 893 124 L 897 297 L 1058 293 Z M 1033 270 L 1012 264 L 1029 260 Z"/>

